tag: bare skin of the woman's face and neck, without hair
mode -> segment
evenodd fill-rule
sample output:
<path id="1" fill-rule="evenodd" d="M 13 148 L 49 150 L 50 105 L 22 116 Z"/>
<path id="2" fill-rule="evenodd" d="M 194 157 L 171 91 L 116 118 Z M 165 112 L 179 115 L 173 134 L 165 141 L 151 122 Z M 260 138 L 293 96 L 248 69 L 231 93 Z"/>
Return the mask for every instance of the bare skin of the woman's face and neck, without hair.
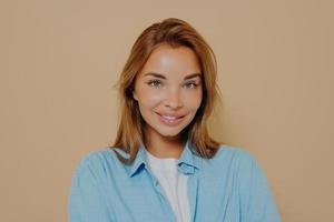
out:
<path id="1" fill-rule="evenodd" d="M 179 159 L 186 143 L 180 132 L 200 107 L 202 87 L 200 67 L 193 50 L 161 44 L 153 51 L 134 90 L 147 123 L 145 147 L 153 155 Z"/>

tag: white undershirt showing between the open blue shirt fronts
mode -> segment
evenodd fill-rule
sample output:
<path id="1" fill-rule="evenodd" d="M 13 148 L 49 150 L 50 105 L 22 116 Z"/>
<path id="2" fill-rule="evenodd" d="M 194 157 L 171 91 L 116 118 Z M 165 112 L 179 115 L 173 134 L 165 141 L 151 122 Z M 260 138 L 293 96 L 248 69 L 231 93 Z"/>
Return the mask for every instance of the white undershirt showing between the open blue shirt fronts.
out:
<path id="1" fill-rule="evenodd" d="M 189 203 L 186 174 L 177 170 L 177 159 L 156 158 L 148 151 L 148 165 L 163 186 L 178 222 L 189 222 Z"/>

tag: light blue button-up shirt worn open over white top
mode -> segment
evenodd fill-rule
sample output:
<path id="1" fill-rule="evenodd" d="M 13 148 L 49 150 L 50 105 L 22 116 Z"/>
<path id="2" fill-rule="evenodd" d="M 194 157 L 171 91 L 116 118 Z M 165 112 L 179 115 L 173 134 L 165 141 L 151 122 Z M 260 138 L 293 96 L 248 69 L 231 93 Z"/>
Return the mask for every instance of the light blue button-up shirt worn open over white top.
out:
<path id="1" fill-rule="evenodd" d="M 214 158 L 203 159 L 190 145 L 188 141 L 177 168 L 189 175 L 191 222 L 281 221 L 266 175 L 250 153 L 220 145 Z M 130 165 L 110 148 L 87 153 L 71 181 L 69 222 L 176 222 L 144 149 Z"/>

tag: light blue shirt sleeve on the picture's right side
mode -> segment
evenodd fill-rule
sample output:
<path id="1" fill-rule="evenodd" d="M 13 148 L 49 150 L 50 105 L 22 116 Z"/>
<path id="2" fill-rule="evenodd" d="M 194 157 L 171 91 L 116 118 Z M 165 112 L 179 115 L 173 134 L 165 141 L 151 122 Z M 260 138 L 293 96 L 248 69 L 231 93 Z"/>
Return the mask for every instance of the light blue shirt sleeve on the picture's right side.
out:
<path id="1" fill-rule="evenodd" d="M 281 222 L 267 178 L 253 155 L 246 151 L 239 165 L 243 222 Z"/>

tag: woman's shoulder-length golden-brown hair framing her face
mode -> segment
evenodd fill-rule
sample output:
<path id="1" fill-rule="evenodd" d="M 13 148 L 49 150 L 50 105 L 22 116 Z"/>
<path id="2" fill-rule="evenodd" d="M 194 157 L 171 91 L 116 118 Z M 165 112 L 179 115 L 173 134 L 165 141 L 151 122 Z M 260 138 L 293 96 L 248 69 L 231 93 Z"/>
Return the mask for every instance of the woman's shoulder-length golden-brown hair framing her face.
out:
<path id="1" fill-rule="evenodd" d="M 131 163 L 140 144 L 145 142 L 144 121 L 137 101 L 132 98 L 137 74 L 141 71 L 151 52 L 161 44 L 173 48 L 187 47 L 197 56 L 203 74 L 203 99 L 194 120 L 183 130 L 193 152 L 202 158 L 213 158 L 219 143 L 213 140 L 207 131 L 207 120 L 213 112 L 215 101 L 219 98 L 216 84 L 217 63 L 212 48 L 204 38 L 186 21 L 169 18 L 148 27 L 138 37 L 131 48 L 130 56 L 117 82 L 120 107 L 120 121 L 116 141 L 110 148 L 120 148 L 129 154 L 128 159 L 119 155 L 118 159 L 126 164 Z"/>

